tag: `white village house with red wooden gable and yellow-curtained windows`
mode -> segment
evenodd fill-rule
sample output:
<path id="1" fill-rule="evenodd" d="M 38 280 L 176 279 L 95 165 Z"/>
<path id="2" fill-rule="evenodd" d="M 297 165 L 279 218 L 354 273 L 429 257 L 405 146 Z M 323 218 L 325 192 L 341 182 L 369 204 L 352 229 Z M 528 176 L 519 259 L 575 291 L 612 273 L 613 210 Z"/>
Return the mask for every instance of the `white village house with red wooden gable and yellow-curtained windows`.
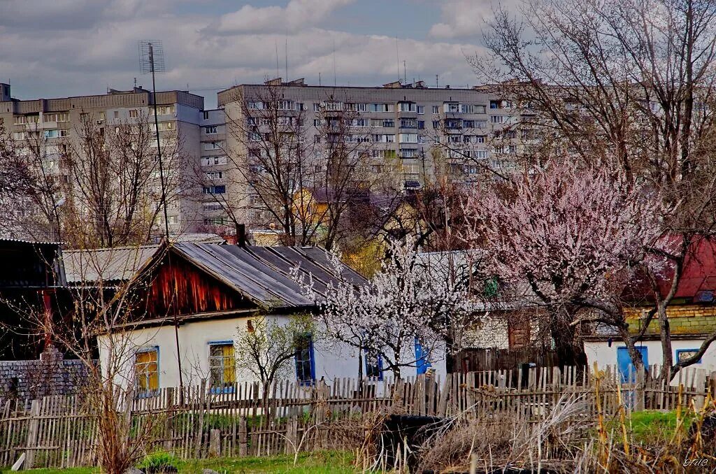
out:
<path id="1" fill-rule="evenodd" d="M 102 269 L 97 271 L 95 262 L 100 261 Z M 70 252 L 65 264 L 71 284 L 94 280 L 110 287 L 128 281 L 136 287 L 141 304 L 116 331 L 132 348 L 125 354 L 124 377 L 127 382 L 134 378 L 138 390 L 147 393 L 200 379 L 213 387 L 251 380 L 251 374 L 234 368 L 240 332 L 251 330 L 261 318 L 283 324 L 292 315 L 316 310 L 316 298 L 306 296 L 291 274 L 296 267 L 311 274 L 317 299 L 335 279 L 328 253 L 319 247 L 171 243 Z M 356 284 L 364 281 L 348 266 L 342 273 Z M 107 341 L 106 334 L 97 338 L 100 364 L 107 360 Z M 357 377 L 361 360 L 364 375 L 382 379 L 379 361 L 309 337 L 305 347 L 296 347 L 291 378 L 309 383 Z M 444 372 L 440 360 L 431 362 L 437 372 Z M 413 368 L 412 375 L 427 367 L 430 364 Z M 410 376 L 407 372 L 403 375 Z"/>

